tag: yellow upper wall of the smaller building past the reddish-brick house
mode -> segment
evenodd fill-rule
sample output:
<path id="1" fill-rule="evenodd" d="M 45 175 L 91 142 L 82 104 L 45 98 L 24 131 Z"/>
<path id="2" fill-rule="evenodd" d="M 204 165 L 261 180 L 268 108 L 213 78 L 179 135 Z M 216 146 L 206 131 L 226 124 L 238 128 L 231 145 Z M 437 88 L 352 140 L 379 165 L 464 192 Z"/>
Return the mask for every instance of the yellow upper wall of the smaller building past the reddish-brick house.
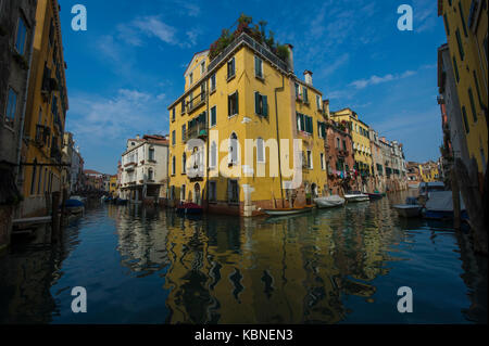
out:
<path id="1" fill-rule="evenodd" d="M 371 151 L 371 140 L 361 133 L 360 128 L 363 128 L 366 133 L 369 133 L 368 126 L 363 124 L 356 114 L 354 114 L 350 108 L 341 110 L 333 113 L 331 117 L 335 121 L 351 123 L 351 137 L 354 143 L 353 157 L 355 162 L 363 163 L 368 166 L 368 171 L 372 175 L 372 151 Z M 362 151 L 362 145 L 364 150 Z"/>

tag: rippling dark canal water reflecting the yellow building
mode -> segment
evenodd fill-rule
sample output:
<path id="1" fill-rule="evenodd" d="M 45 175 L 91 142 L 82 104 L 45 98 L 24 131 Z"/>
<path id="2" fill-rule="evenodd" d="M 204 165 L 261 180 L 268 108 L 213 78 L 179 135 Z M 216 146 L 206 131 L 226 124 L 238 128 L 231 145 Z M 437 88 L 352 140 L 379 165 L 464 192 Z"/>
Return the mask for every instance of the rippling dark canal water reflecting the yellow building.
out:
<path id="1" fill-rule="evenodd" d="M 59 245 L 0 257 L 0 323 L 487 323 L 487 259 L 450 225 L 399 218 L 405 196 L 252 219 L 96 203 Z"/>

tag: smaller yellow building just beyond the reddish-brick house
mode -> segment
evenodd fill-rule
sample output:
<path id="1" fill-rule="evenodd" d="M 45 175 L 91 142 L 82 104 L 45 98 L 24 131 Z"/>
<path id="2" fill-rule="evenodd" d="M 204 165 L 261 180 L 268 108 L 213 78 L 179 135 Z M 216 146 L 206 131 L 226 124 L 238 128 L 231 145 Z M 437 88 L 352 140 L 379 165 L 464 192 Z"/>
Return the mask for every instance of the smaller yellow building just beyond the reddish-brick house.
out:
<path id="1" fill-rule="evenodd" d="M 331 112 L 330 116 L 335 121 L 344 121 L 350 127 L 355 169 L 362 177 L 369 177 L 372 175 L 372 151 L 368 125 L 363 123 L 359 115 L 350 108 Z"/>

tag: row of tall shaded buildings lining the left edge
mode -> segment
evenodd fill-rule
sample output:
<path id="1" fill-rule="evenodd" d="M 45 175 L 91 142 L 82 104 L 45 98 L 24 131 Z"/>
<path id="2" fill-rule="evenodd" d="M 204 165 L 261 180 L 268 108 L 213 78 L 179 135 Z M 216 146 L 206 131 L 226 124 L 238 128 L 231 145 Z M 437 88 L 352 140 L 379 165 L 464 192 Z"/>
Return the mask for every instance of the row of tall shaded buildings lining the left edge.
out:
<path id="1" fill-rule="evenodd" d="M 58 0 L 0 1 L 0 247 L 13 218 L 48 215 L 53 192 L 80 183 L 60 11 Z"/>

